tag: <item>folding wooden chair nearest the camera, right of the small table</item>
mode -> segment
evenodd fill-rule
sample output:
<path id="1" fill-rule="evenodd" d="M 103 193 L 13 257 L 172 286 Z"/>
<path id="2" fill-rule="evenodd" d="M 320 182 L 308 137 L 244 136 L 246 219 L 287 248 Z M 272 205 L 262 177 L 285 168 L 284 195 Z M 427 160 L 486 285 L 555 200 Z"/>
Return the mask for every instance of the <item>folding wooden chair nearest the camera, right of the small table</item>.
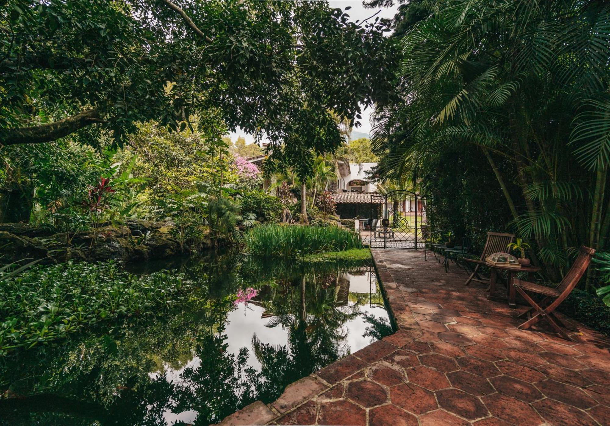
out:
<path id="1" fill-rule="evenodd" d="M 539 322 L 539 320 L 545 319 L 564 339 L 572 341 L 570 336 L 561 328 L 565 328 L 565 325 L 555 316 L 555 314 L 553 314 L 553 311 L 570 295 L 570 292 L 576 287 L 578 281 L 583 278 L 583 274 L 587 270 L 587 267 L 589 267 L 591 258 L 594 254 L 595 250 L 584 247 L 583 245 L 583 247 L 580 248 L 578 258 L 576 258 L 576 261 L 557 288 L 540 286 L 539 284 L 514 278 L 514 280 L 512 280 L 512 285 L 515 287 L 515 290 L 532 306 L 519 315 L 519 317 L 528 317 L 528 320 L 522 323 L 519 328 L 526 330 Z M 541 294 L 544 298 L 542 298 L 539 303 L 536 303 L 533 298 L 529 297 L 528 292 Z M 536 314 L 531 316 L 534 311 L 536 311 Z"/>

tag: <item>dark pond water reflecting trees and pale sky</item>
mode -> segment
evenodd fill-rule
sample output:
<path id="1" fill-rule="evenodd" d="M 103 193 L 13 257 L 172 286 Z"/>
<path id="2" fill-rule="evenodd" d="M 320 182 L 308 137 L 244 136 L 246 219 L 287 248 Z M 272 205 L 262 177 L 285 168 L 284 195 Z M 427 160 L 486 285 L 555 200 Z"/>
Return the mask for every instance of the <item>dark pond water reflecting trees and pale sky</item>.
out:
<path id="1" fill-rule="evenodd" d="M 375 272 L 239 253 L 176 269 L 188 303 L 0 359 L 0 424 L 208 425 L 392 333 Z"/>

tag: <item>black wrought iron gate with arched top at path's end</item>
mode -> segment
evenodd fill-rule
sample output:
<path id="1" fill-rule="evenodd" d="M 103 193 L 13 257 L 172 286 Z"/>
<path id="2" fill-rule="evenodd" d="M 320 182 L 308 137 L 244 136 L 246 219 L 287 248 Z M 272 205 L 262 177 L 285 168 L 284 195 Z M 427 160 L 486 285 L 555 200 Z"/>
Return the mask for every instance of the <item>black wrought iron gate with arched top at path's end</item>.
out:
<path id="1" fill-rule="evenodd" d="M 371 193 L 370 217 L 364 242 L 371 248 L 417 250 L 425 247 L 428 221 L 426 200 L 420 194 L 401 189 L 384 194 Z"/>

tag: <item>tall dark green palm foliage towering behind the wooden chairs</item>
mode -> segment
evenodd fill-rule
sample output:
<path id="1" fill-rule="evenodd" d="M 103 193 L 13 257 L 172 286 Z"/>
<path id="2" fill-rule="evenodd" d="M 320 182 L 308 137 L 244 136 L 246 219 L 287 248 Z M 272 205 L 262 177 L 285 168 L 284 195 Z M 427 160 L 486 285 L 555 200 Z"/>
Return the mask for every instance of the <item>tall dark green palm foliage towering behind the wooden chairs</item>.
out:
<path id="1" fill-rule="evenodd" d="M 606 250 L 610 5 L 418 1 L 396 19 L 410 29 L 404 96 L 376 109 L 382 178 L 410 176 L 436 228 L 514 230 L 553 281 L 579 245 Z"/>

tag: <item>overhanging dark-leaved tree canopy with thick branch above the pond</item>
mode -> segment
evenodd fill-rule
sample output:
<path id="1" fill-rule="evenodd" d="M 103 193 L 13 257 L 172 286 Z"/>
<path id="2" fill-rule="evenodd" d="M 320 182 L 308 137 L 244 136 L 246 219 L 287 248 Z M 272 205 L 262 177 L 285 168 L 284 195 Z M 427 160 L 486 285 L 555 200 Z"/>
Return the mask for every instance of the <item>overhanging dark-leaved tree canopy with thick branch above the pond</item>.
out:
<path id="1" fill-rule="evenodd" d="M 213 111 L 299 164 L 339 145 L 329 110 L 357 119 L 392 92 L 398 58 L 384 26 L 326 2 L 15 0 L 0 16 L 2 145 L 121 145 L 138 121 Z"/>

